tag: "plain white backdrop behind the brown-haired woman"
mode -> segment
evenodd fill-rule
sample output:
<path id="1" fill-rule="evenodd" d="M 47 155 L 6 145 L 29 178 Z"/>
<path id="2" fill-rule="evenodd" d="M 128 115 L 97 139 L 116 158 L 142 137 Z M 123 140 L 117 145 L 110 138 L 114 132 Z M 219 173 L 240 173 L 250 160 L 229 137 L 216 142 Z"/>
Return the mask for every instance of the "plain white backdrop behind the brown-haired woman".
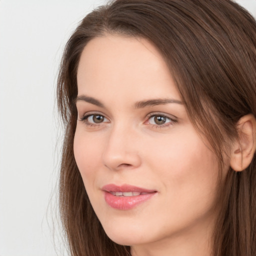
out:
<path id="1" fill-rule="evenodd" d="M 56 76 L 71 31 L 104 2 L 0 0 L 0 256 L 67 255 L 56 210 Z M 256 14 L 256 0 L 238 2 Z"/>

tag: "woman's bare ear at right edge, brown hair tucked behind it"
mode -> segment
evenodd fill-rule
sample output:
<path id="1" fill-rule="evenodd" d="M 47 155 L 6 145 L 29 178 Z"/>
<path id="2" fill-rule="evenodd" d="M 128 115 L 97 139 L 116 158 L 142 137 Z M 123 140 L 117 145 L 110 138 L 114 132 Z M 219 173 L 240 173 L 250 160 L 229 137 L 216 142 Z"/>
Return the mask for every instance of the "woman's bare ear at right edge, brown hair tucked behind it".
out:
<path id="1" fill-rule="evenodd" d="M 231 148 L 230 166 L 241 171 L 250 164 L 256 149 L 256 120 L 253 114 L 242 116 L 236 125 L 238 140 Z"/>

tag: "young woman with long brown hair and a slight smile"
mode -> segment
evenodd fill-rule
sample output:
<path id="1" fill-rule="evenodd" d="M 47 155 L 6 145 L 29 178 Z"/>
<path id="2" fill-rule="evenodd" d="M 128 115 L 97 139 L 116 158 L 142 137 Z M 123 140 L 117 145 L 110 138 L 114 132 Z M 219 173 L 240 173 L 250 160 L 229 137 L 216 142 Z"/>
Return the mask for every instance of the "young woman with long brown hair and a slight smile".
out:
<path id="1" fill-rule="evenodd" d="M 67 42 L 71 255 L 256 255 L 256 23 L 230 0 L 115 0 Z"/>

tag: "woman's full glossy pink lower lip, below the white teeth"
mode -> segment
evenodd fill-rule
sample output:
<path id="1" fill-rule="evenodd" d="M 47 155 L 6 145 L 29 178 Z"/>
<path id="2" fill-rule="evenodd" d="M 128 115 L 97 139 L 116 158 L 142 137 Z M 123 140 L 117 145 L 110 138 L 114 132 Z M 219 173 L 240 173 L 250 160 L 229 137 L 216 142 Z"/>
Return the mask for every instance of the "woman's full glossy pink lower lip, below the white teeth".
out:
<path id="1" fill-rule="evenodd" d="M 134 196 L 117 196 L 104 191 L 105 201 L 112 208 L 119 210 L 128 210 L 135 207 L 137 204 L 150 199 L 156 192 L 139 194 Z"/>

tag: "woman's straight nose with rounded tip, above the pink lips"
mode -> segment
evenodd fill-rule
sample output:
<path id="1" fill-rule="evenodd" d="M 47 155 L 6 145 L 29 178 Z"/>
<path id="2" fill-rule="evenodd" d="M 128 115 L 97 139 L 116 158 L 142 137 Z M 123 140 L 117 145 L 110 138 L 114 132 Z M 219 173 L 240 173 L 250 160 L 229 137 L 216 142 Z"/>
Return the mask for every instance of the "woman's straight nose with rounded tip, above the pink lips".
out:
<path id="1" fill-rule="evenodd" d="M 111 170 L 133 169 L 141 164 L 136 132 L 128 128 L 115 127 L 109 132 L 103 151 L 103 164 Z"/>

